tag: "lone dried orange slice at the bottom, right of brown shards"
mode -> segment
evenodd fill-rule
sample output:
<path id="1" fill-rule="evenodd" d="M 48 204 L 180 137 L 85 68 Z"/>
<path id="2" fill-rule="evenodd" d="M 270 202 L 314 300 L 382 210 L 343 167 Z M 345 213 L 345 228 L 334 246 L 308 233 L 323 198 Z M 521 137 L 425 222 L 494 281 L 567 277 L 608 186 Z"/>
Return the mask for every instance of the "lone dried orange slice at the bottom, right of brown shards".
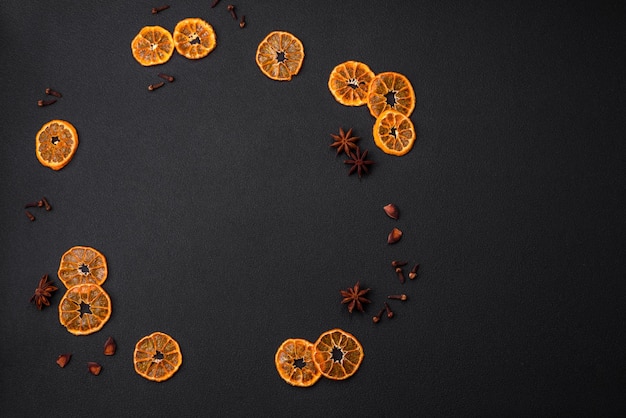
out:
<path id="1" fill-rule="evenodd" d="M 183 362 L 183 353 L 175 339 L 163 332 L 153 332 L 135 345 L 135 371 L 155 382 L 169 379 Z"/>

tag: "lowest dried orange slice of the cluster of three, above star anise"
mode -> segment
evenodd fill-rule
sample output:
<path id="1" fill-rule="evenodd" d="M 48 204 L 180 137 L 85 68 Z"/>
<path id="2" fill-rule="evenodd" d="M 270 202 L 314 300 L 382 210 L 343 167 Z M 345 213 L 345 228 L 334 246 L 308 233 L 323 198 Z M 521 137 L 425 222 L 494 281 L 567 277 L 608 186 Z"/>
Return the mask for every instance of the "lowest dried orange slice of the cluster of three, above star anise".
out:
<path id="1" fill-rule="evenodd" d="M 416 136 L 411 119 L 394 109 L 385 110 L 378 115 L 373 134 L 378 148 L 396 156 L 411 151 Z"/>

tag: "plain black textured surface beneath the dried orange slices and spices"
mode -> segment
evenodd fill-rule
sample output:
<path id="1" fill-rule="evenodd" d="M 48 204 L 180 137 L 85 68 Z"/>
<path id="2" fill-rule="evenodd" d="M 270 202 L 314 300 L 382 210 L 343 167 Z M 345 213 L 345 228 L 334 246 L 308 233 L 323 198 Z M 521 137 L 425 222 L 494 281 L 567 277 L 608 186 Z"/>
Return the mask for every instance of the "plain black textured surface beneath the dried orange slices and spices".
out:
<path id="1" fill-rule="evenodd" d="M 240 1 L 243 30 L 210 3 L 0 5 L 3 416 L 626 413 L 621 2 Z M 186 17 L 213 24 L 214 52 L 135 62 L 142 26 Z M 272 30 L 305 46 L 291 82 L 254 62 Z M 408 155 L 383 154 L 367 109 L 330 95 L 349 59 L 411 80 Z M 176 81 L 149 92 L 161 71 Z M 39 108 L 46 87 L 64 96 Z M 59 172 L 34 148 L 55 118 L 80 138 Z M 329 147 L 340 126 L 376 161 L 360 181 Z M 53 210 L 30 222 L 23 205 L 41 196 Z M 28 303 L 42 274 L 60 285 L 74 245 L 106 255 L 114 308 L 83 337 L 58 322 L 62 291 Z M 393 259 L 421 263 L 419 278 L 401 285 Z M 338 291 L 357 280 L 374 303 L 349 315 Z M 410 300 L 373 324 L 398 292 Z M 334 327 L 362 342 L 358 373 L 284 383 L 279 344 Z M 157 330 L 184 356 L 164 383 L 132 365 Z"/>

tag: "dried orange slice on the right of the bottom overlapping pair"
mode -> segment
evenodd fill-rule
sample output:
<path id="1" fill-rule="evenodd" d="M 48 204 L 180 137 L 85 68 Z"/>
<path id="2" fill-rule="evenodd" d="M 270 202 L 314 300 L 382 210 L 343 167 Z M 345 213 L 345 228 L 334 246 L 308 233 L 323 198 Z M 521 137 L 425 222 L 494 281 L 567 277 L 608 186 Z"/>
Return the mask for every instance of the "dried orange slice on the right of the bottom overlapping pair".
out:
<path id="1" fill-rule="evenodd" d="M 354 335 L 339 328 L 326 331 L 314 343 L 314 360 L 324 377 L 343 380 L 352 376 L 363 361 L 363 347 Z"/>

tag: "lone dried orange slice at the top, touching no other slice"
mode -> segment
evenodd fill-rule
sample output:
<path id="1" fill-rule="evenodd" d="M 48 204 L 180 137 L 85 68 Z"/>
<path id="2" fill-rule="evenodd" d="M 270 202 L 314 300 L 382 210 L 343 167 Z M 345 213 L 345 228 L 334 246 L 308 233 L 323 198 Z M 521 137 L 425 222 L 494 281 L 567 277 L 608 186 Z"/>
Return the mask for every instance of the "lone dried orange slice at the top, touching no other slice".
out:
<path id="1" fill-rule="evenodd" d="M 272 80 L 291 80 L 300 71 L 303 60 L 302 42 L 289 32 L 270 32 L 256 50 L 257 65 Z"/>

